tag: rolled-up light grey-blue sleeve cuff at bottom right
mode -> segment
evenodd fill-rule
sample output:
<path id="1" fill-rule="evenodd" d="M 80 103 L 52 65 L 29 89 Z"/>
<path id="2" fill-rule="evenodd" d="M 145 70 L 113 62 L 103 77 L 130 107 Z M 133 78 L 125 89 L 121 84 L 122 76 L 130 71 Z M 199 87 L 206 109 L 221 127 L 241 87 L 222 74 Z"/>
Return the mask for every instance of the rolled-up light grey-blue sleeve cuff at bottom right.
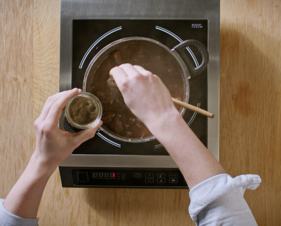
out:
<path id="1" fill-rule="evenodd" d="M 243 195 L 261 183 L 258 175 L 228 174 L 213 176 L 196 185 L 189 192 L 189 214 L 197 226 L 201 225 L 257 225 Z"/>

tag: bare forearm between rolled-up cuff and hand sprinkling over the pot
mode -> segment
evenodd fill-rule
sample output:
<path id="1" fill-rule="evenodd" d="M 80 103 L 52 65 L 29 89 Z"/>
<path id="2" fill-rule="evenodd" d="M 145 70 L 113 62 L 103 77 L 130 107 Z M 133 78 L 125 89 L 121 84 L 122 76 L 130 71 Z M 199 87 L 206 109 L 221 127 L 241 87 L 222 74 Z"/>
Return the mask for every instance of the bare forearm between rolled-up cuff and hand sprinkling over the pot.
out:
<path id="1" fill-rule="evenodd" d="M 211 176 L 225 173 L 177 111 L 167 113 L 158 124 L 154 122 L 149 123 L 150 131 L 174 159 L 190 189 Z"/>

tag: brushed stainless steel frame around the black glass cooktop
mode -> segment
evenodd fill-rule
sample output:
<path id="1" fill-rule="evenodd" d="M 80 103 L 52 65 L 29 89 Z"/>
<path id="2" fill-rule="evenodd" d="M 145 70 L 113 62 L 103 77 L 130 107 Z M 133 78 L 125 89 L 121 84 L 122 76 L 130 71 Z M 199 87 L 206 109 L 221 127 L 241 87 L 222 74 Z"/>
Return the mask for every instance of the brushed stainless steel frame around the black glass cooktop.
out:
<path id="1" fill-rule="evenodd" d="M 207 19 L 208 149 L 219 157 L 219 0 L 61 0 L 60 92 L 71 88 L 73 19 Z M 62 120 L 60 128 L 63 129 Z M 177 168 L 170 156 L 70 155 L 60 166 Z"/>

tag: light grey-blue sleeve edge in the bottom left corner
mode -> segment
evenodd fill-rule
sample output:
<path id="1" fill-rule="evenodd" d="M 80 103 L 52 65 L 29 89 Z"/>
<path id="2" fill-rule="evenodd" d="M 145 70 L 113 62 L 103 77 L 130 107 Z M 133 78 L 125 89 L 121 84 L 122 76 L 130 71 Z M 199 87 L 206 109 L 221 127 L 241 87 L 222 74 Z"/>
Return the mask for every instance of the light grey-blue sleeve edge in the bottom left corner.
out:
<path id="1" fill-rule="evenodd" d="M 37 218 L 22 218 L 8 212 L 0 199 L 0 225 L 3 226 L 38 226 Z"/>

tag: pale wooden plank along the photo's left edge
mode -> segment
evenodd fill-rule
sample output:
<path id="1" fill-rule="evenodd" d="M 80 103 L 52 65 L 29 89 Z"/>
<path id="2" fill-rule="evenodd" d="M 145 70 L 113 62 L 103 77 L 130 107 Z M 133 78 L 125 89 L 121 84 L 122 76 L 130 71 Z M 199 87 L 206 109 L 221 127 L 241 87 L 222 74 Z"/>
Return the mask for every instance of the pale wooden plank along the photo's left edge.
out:
<path id="1" fill-rule="evenodd" d="M 34 151 L 33 1 L 0 1 L 0 197 Z"/>

